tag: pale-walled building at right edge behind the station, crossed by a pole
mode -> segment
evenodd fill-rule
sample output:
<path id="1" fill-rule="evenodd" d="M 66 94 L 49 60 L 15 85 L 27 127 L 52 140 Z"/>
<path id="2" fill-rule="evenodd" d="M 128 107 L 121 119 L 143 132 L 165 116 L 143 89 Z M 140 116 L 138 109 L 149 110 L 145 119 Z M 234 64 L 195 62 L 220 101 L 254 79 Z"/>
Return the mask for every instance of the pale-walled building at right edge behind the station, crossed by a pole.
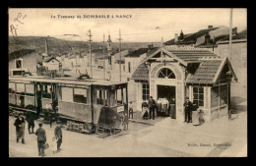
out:
<path id="1" fill-rule="evenodd" d="M 231 83 L 231 96 L 247 99 L 247 29 L 232 36 L 231 57 L 229 56 L 229 36 L 218 42 L 218 54 L 228 57 L 236 73 L 238 82 Z"/>

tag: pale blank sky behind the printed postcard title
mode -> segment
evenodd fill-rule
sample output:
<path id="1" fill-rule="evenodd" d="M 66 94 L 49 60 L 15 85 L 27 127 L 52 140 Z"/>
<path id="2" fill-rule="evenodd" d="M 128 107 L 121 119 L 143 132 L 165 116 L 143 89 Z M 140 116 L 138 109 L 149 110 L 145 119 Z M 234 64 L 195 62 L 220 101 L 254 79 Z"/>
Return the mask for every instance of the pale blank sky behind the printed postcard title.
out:
<path id="1" fill-rule="evenodd" d="M 208 26 L 229 27 L 230 17 L 228 8 L 10 8 L 8 13 L 10 36 L 49 35 L 67 40 L 87 41 L 88 31 L 91 29 L 92 40 L 96 42 L 103 41 L 103 34 L 106 40 L 108 33 L 112 42 L 118 42 L 119 29 L 123 42 L 160 42 L 161 37 L 163 41 L 167 41 L 174 37 L 174 33 L 180 33 L 181 29 L 186 34 Z M 101 18 L 91 18 L 99 15 Z M 236 27 L 238 32 L 247 28 L 245 8 L 233 9 L 232 27 Z M 64 34 L 76 34 L 76 36 Z"/>

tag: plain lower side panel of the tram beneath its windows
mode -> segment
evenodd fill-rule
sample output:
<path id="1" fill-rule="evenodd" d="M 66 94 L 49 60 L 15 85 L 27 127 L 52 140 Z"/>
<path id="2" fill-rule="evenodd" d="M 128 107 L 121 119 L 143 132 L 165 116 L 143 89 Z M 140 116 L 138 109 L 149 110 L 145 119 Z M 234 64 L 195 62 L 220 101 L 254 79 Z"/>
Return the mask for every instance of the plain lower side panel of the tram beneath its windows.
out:
<path id="1" fill-rule="evenodd" d="M 60 114 L 76 118 L 79 121 L 92 122 L 92 110 L 90 104 L 59 101 Z"/>

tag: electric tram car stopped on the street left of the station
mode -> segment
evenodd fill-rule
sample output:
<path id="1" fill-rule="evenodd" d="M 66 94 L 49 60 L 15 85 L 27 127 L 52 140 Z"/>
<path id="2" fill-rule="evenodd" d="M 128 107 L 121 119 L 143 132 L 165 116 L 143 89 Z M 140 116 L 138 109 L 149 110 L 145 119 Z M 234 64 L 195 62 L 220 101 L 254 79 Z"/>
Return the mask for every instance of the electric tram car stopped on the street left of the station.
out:
<path id="1" fill-rule="evenodd" d="M 9 108 L 44 116 L 49 110 L 67 130 L 119 129 L 128 112 L 127 83 L 71 78 L 9 77 Z"/>

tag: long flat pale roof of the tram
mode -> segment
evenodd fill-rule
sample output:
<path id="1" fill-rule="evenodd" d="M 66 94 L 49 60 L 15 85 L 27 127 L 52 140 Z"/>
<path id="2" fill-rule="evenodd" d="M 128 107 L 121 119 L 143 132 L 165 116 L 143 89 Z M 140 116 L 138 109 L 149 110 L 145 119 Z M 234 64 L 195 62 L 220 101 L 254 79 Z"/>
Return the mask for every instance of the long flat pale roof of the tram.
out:
<path id="1" fill-rule="evenodd" d="M 67 84 L 80 84 L 80 85 L 115 85 L 123 84 L 127 82 L 114 82 L 114 81 L 103 81 L 103 80 L 77 80 L 77 79 L 68 79 L 68 78 L 55 78 L 55 79 L 46 79 L 42 77 L 9 77 L 9 81 L 20 81 L 20 82 L 37 82 L 37 83 L 67 83 Z"/>

